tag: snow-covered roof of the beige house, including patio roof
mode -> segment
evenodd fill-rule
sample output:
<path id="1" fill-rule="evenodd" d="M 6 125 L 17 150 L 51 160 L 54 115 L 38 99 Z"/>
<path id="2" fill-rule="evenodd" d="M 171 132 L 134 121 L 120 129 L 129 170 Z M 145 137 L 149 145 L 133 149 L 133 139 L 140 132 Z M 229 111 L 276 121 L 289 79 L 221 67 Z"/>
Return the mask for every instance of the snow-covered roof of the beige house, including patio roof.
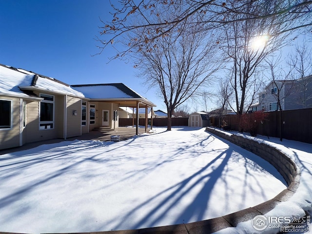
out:
<path id="1" fill-rule="evenodd" d="M 156 106 L 123 83 L 69 85 L 55 78 L 0 64 L 0 95 L 42 99 L 33 91 L 48 91 L 55 94 L 98 101 L 110 101 L 121 106 Z"/>

